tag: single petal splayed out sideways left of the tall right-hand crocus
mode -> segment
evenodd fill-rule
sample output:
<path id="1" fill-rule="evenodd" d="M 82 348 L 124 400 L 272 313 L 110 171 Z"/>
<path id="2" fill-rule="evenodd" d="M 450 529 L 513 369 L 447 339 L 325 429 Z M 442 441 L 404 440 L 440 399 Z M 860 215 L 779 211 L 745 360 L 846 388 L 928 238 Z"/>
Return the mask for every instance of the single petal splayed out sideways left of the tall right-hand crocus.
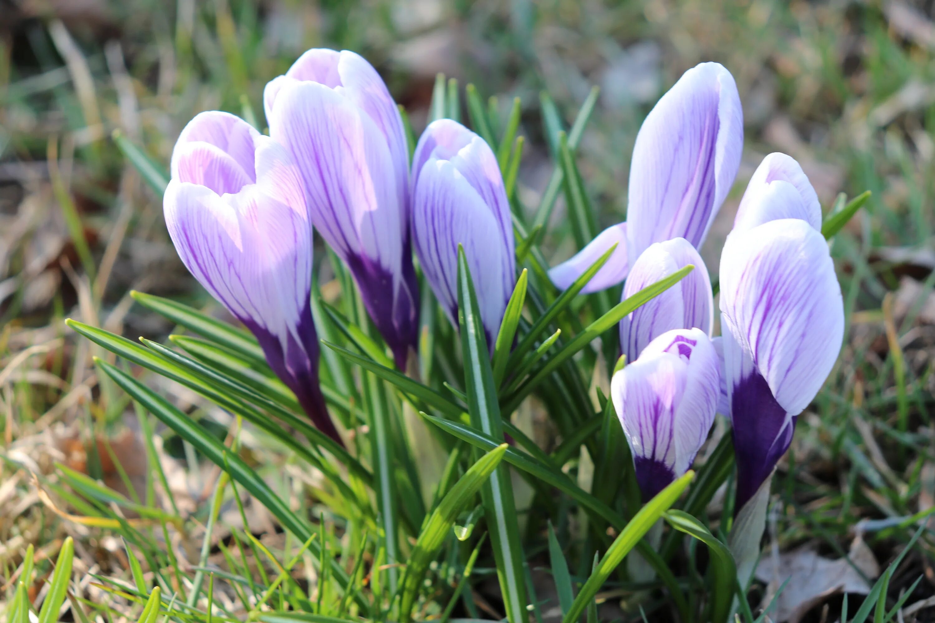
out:
<path id="1" fill-rule="evenodd" d="M 611 257 L 604 262 L 595 276 L 585 284 L 582 294 L 590 294 L 606 290 L 626 279 L 629 262 L 626 256 L 626 223 L 611 225 L 597 234 L 585 248 L 578 251 L 570 260 L 562 262 L 549 271 L 555 288 L 567 290 L 571 284 L 578 280 L 594 262 L 600 259 L 607 250 L 616 245 Z"/>

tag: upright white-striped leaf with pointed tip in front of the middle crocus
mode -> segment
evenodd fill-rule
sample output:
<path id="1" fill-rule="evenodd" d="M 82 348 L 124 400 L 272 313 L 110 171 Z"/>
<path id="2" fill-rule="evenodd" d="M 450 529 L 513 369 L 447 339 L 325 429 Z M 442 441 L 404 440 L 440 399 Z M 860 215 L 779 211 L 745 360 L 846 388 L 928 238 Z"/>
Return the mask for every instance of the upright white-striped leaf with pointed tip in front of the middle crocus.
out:
<path id="1" fill-rule="evenodd" d="M 465 383 L 471 425 L 494 439 L 503 440 L 500 407 L 496 399 L 490 351 L 484 337 L 477 294 L 471 280 L 468 258 L 458 246 L 458 325 L 461 328 L 461 351 L 465 361 Z M 504 608 L 510 623 L 525 621 L 525 578 L 522 543 L 516 517 L 516 503 L 510 472 L 496 468 L 482 487 L 487 529 L 494 548 L 496 575 L 500 582 Z"/>

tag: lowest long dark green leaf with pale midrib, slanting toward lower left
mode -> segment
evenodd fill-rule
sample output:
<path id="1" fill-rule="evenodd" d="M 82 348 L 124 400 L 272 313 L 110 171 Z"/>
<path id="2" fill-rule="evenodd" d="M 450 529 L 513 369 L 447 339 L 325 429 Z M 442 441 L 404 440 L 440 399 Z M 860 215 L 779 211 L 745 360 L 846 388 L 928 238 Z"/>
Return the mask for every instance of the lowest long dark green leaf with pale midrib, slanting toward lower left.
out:
<path id="1" fill-rule="evenodd" d="M 162 396 L 141 384 L 133 376 L 127 375 L 106 361 L 95 360 L 95 364 L 153 416 L 162 420 L 182 439 L 195 446 L 215 465 L 227 471 L 234 480 L 251 493 L 257 502 L 263 504 L 273 517 L 280 521 L 284 529 L 291 531 L 303 543 L 309 539 L 312 531 L 308 521 L 296 516 L 289 505 L 284 503 L 269 488 L 266 481 L 256 474 L 240 457 L 230 454 L 228 448 L 211 436 L 209 432 L 206 432 L 178 408 L 169 404 Z M 317 545 L 314 543 L 309 546 L 309 550 L 313 555 L 319 554 Z M 335 579 L 341 588 L 347 587 L 347 573 L 338 563 L 332 565 L 331 573 L 334 573 Z M 367 603 L 361 603 L 361 608 L 367 611 Z"/>

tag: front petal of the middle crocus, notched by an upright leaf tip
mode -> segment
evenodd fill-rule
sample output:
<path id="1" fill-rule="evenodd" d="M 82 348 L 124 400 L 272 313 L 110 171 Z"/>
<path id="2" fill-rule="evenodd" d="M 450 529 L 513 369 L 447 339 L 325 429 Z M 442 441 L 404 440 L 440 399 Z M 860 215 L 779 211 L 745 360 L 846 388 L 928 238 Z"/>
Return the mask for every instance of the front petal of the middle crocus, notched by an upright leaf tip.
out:
<path id="1" fill-rule="evenodd" d="M 416 255 L 439 303 L 457 325 L 457 256 L 458 245 L 464 246 L 490 347 L 513 276 L 511 251 L 491 244 L 499 235 L 495 215 L 453 163 L 434 158 L 425 163 L 413 201 Z"/>

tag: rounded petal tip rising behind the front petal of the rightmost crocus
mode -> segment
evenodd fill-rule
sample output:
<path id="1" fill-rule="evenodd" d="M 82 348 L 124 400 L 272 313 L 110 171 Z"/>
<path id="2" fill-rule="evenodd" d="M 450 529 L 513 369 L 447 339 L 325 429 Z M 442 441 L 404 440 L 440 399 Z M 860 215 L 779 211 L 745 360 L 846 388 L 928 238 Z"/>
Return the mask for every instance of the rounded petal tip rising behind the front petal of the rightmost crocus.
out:
<path id="1" fill-rule="evenodd" d="M 747 184 L 734 219 L 734 231 L 746 231 L 769 220 L 802 219 L 821 231 L 818 195 L 795 159 L 770 153 Z"/>

